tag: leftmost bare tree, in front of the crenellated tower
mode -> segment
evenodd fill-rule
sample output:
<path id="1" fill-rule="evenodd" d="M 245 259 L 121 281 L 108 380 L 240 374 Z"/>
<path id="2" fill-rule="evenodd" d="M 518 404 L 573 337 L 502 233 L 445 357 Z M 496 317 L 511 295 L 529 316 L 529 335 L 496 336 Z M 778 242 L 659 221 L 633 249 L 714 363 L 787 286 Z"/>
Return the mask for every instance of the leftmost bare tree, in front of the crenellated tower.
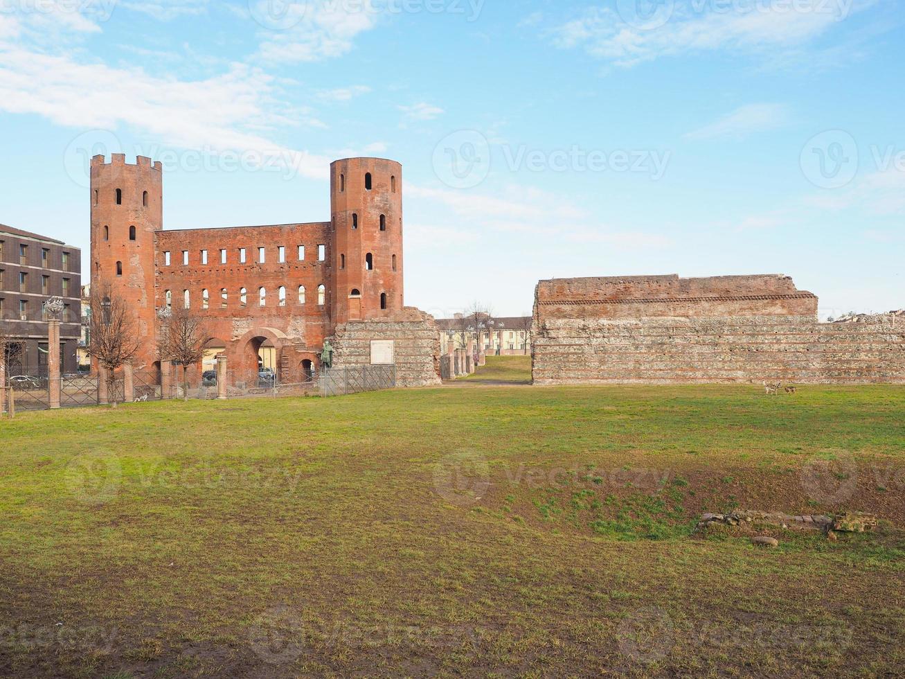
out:
<path id="1" fill-rule="evenodd" d="M 116 407 L 116 371 L 138 353 L 138 326 L 126 298 L 109 281 L 91 285 L 90 356 L 107 373 L 110 406 Z"/>

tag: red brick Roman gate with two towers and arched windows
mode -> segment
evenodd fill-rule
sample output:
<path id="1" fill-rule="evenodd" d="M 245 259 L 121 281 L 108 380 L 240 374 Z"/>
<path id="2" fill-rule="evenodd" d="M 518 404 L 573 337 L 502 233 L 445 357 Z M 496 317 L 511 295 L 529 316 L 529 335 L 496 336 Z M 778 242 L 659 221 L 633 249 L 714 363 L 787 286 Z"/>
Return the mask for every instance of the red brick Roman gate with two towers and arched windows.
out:
<path id="1" fill-rule="evenodd" d="M 187 303 L 205 319 L 233 375 L 255 371 L 262 345 L 274 347 L 284 380 L 316 369 L 338 326 L 403 310 L 399 163 L 332 163 L 328 222 L 178 231 L 163 229 L 162 173 L 150 158 L 91 161 L 91 275 L 134 306 L 139 363 L 159 367 L 166 307 Z"/>

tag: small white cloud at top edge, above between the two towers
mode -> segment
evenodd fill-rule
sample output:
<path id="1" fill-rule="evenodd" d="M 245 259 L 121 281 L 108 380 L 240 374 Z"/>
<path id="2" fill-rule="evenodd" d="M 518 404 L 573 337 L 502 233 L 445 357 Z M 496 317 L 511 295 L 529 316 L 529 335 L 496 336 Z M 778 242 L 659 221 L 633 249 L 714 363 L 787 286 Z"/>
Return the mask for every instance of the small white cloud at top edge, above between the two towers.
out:
<path id="1" fill-rule="evenodd" d="M 252 17 L 262 27 L 257 57 L 268 63 L 318 62 L 348 53 L 353 39 L 376 26 L 369 0 L 341 3 L 308 0 L 285 5 L 286 14 L 271 15 L 271 0 L 253 0 Z M 280 30 L 271 30 L 273 23 Z"/>

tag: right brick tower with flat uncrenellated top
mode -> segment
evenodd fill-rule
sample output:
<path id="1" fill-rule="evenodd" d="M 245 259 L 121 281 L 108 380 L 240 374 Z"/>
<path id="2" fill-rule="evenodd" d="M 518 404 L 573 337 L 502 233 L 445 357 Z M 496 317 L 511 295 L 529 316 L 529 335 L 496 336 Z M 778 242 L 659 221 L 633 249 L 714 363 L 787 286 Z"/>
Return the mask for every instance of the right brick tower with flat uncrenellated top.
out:
<path id="1" fill-rule="evenodd" d="M 402 309 L 402 166 L 383 158 L 332 163 L 330 220 L 333 324 Z"/>

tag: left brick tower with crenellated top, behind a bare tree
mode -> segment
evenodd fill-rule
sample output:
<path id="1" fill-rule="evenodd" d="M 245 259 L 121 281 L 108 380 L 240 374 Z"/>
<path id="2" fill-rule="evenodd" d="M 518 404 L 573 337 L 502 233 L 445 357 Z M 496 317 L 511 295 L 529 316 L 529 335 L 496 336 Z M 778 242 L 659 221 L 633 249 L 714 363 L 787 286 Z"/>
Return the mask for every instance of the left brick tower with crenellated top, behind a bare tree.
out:
<path id="1" fill-rule="evenodd" d="M 163 228 L 163 167 L 142 156 L 127 165 L 118 153 L 104 160 L 91 158 L 90 279 L 109 281 L 135 310 L 136 367 L 150 367 L 157 360 L 154 232 Z"/>

